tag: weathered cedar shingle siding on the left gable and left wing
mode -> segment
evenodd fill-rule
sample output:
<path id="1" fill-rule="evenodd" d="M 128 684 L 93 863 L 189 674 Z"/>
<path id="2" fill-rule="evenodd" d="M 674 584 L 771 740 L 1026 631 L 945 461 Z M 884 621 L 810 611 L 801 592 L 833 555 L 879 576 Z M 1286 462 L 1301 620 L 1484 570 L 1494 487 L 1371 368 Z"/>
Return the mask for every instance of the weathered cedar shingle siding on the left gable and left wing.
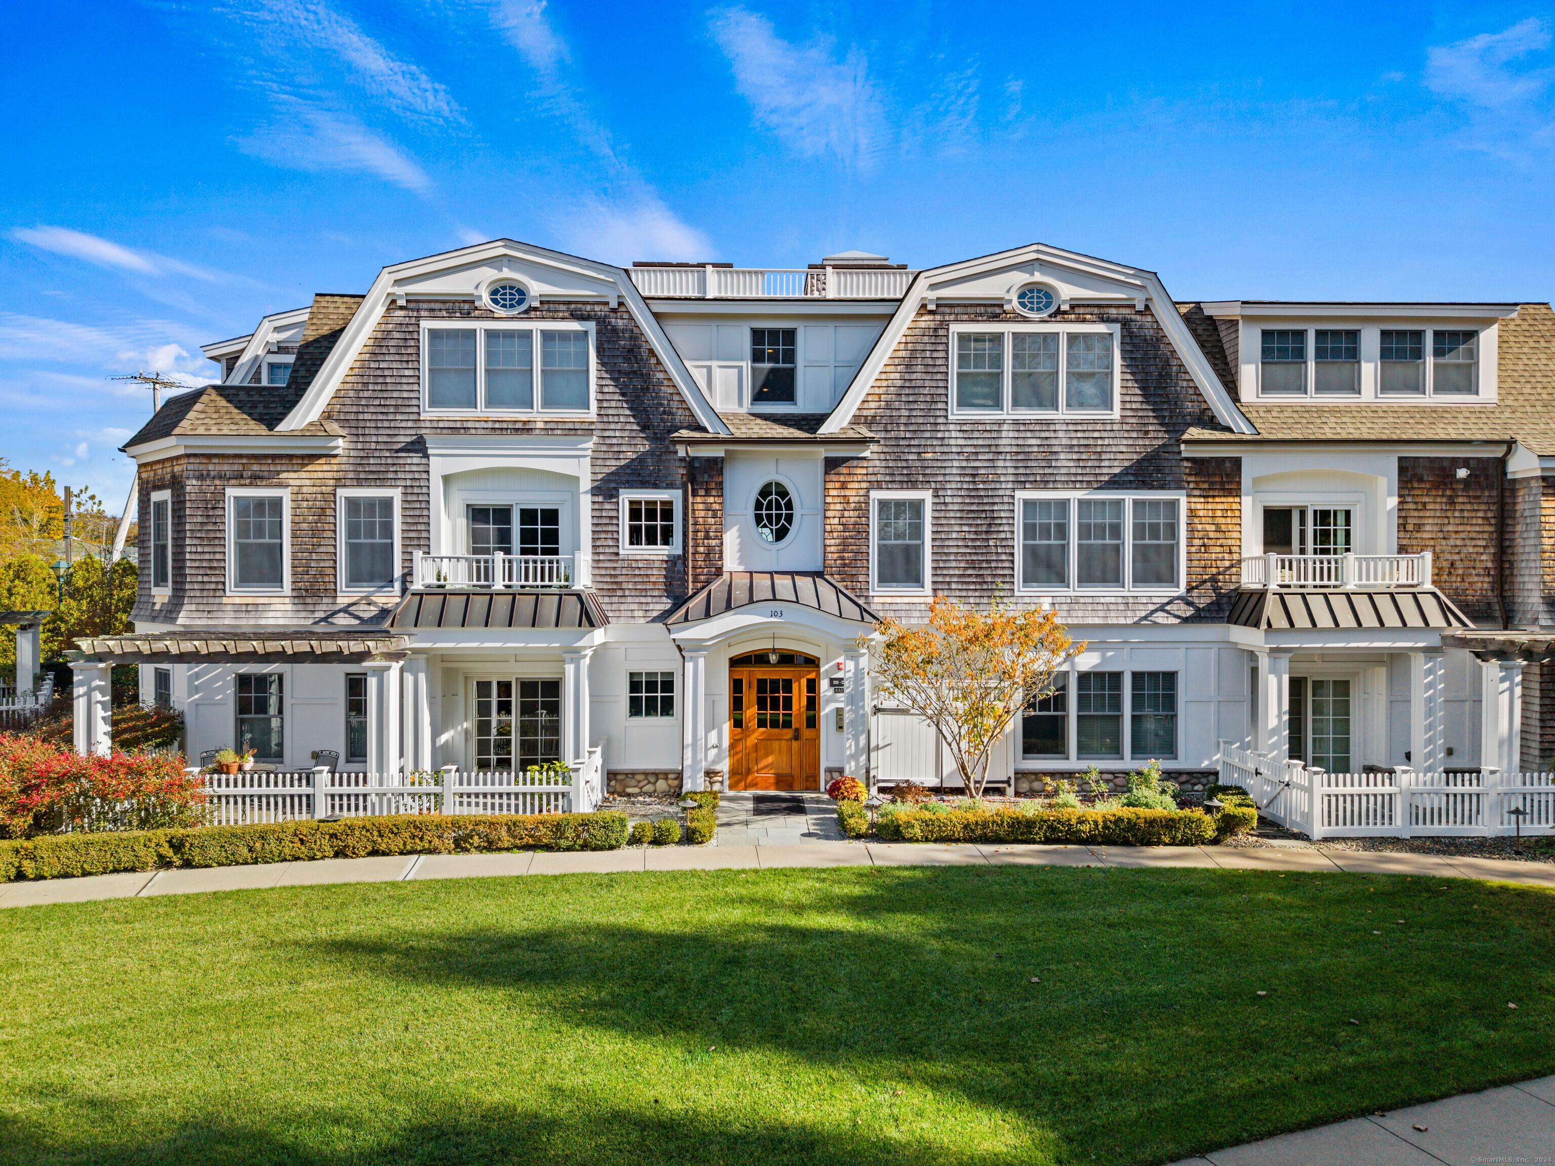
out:
<path id="1" fill-rule="evenodd" d="M 350 297 L 328 297 L 347 300 Z M 333 345 L 348 317 L 348 303 L 333 305 L 325 336 Z M 624 488 L 683 490 L 684 471 L 669 435 L 695 424 L 642 337 L 627 308 L 599 303 L 546 302 L 526 314 L 533 320 L 591 320 L 596 326 L 599 379 L 597 420 L 544 421 L 508 418 L 421 417 L 420 320 L 494 319 L 471 302 L 411 302 L 390 306 L 327 407 L 322 423 L 345 434 L 339 457 L 199 456 L 156 462 L 142 471 L 142 515 L 149 515 L 149 490 L 174 490 L 174 602 L 151 608 L 143 575 L 137 620 L 210 623 L 313 623 L 378 620 L 384 605 L 372 599 L 337 597 L 336 487 L 398 487 L 401 494 L 401 569 L 414 550 L 431 550 L 429 484 L 425 434 L 543 434 L 592 437 L 594 588 L 611 619 L 662 617 L 689 594 L 684 557 L 631 558 L 619 553 L 619 511 Z M 313 333 L 309 317 L 309 339 Z M 303 348 L 309 345 L 305 340 Z M 327 350 L 325 350 L 327 351 Z M 306 354 L 306 353 L 303 353 Z M 302 356 L 299 356 L 302 359 Z M 322 362 L 322 356 L 319 358 Z M 309 370 L 311 373 L 311 370 Z M 311 379 L 311 376 L 309 376 Z M 292 389 L 292 386 L 288 386 Z M 278 418 L 277 418 L 278 420 Z M 166 466 L 165 470 L 162 466 Z M 156 482 L 157 485 L 151 485 Z M 224 488 L 229 485 L 291 487 L 292 594 L 285 599 L 225 602 Z M 722 485 L 720 485 L 722 488 Z M 149 553 L 149 522 L 142 521 L 142 552 Z M 143 558 L 142 561 L 148 561 Z M 148 572 L 149 574 L 149 572 Z M 183 581 L 188 580 L 185 586 Z M 345 602 L 348 600 L 348 602 Z"/>

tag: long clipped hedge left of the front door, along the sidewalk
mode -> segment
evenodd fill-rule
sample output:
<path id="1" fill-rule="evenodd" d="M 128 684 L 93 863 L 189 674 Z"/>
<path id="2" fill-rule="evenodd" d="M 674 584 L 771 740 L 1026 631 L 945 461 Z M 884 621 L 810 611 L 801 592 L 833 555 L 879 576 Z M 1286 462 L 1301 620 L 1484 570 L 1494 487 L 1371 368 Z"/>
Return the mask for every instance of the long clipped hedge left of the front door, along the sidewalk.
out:
<path id="1" fill-rule="evenodd" d="M 676 835 L 680 827 L 676 826 Z M 247 866 L 470 850 L 616 850 L 627 815 L 395 815 L 337 822 L 207 826 L 140 833 L 48 835 L 0 841 L 0 881 L 73 878 L 159 866 Z"/>

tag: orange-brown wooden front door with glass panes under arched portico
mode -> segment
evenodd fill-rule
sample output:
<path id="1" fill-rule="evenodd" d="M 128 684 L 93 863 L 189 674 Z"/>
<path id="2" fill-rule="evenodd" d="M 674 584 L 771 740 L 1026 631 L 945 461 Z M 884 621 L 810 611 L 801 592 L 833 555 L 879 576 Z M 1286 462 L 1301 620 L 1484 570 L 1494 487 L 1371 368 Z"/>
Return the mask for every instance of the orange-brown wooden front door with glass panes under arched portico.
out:
<path id="1" fill-rule="evenodd" d="M 819 670 L 809 656 L 765 651 L 729 667 L 729 788 L 819 790 Z"/>

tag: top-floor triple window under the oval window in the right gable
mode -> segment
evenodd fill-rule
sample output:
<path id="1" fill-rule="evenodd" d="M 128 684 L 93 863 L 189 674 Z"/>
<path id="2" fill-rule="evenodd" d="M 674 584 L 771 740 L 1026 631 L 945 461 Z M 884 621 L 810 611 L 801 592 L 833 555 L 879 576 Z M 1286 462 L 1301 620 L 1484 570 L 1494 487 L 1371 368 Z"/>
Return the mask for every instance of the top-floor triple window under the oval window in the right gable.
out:
<path id="1" fill-rule="evenodd" d="M 955 325 L 950 412 L 1115 417 L 1118 336 L 1109 323 Z"/>

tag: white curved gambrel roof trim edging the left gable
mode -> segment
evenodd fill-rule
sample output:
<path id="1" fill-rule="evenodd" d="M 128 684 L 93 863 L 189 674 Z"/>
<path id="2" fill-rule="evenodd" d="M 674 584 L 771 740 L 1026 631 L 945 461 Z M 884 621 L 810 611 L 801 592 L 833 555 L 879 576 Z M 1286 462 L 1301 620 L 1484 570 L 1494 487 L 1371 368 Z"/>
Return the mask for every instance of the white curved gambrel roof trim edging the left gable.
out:
<path id="1" fill-rule="evenodd" d="M 723 418 L 718 417 L 718 414 L 708 403 L 708 398 L 703 396 L 695 378 L 686 368 L 680 353 L 675 351 L 675 345 L 670 344 L 669 336 L 664 334 L 664 328 L 655 319 L 653 312 L 648 311 L 648 305 L 642 300 L 642 294 L 638 291 L 636 285 L 625 271 L 620 267 L 611 267 L 605 263 L 596 263 L 594 260 L 582 260 L 575 255 L 564 255 L 563 252 L 554 252 L 544 247 L 513 243 L 512 239 L 496 239 L 493 243 L 480 243 L 473 247 L 462 247 L 442 255 L 429 255 L 423 260 L 400 263 L 378 272 L 378 278 L 373 280 L 373 286 L 367 291 L 367 295 L 356 308 L 356 312 L 345 325 L 339 342 L 330 350 L 330 354 L 325 358 L 319 373 L 313 378 L 313 384 L 308 386 L 308 392 L 300 401 L 297 401 L 295 406 L 292 406 L 292 410 L 277 426 L 277 431 L 292 432 L 323 415 L 323 409 L 330 403 L 330 398 L 334 396 L 336 389 L 339 389 L 341 382 L 345 379 L 345 373 L 350 372 L 350 367 L 356 362 L 356 358 L 361 354 L 373 330 L 378 326 L 378 320 L 383 319 L 389 302 L 393 298 L 392 289 L 398 280 L 415 278 L 446 271 L 449 267 L 463 267 L 502 257 L 529 260 L 580 275 L 611 280 L 620 291 L 620 297 L 625 300 L 627 309 L 631 312 L 631 319 L 648 337 L 648 344 L 653 347 L 655 354 L 659 358 L 664 370 L 670 375 L 670 379 L 675 381 L 675 387 L 680 390 L 686 406 L 692 410 L 692 414 L 695 414 L 703 429 L 714 434 L 729 432 Z"/>

